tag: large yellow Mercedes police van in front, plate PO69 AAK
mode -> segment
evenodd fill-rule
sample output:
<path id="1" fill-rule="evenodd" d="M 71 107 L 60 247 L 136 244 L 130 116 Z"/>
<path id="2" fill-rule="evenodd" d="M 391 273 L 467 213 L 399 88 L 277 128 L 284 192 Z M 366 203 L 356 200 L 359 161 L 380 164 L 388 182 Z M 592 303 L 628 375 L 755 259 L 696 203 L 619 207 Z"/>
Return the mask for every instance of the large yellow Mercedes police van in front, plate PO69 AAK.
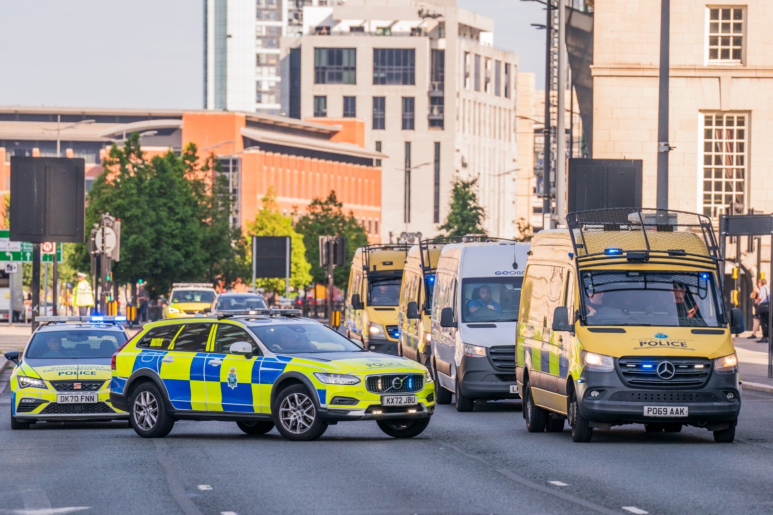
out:
<path id="1" fill-rule="evenodd" d="M 732 442 L 741 410 L 730 334 L 740 310 L 722 298 L 710 219 L 661 209 L 567 215 L 540 231 L 523 280 L 516 374 L 530 432 L 575 442 L 594 429 L 706 428 Z"/>

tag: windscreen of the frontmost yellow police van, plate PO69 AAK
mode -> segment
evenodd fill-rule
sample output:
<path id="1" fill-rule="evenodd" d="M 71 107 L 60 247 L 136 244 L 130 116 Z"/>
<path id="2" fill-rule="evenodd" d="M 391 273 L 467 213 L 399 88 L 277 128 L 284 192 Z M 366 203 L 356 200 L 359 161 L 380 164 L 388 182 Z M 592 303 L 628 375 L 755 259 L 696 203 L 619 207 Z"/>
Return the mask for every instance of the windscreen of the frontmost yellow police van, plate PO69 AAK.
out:
<path id="1" fill-rule="evenodd" d="M 722 327 L 713 273 L 591 270 L 582 273 L 588 325 Z"/>

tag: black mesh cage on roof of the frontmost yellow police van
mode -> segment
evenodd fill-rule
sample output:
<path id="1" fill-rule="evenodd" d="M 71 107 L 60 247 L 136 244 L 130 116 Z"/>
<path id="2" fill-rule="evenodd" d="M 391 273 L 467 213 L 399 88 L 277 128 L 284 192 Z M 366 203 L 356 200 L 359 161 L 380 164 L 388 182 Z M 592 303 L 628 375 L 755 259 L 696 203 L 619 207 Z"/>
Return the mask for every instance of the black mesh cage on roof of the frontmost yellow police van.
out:
<path id="1" fill-rule="evenodd" d="M 600 260 L 650 262 L 651 257 L 704 260 L 717 266 L 722 259 L 711 219 L 673 209 L 606 208 L 567 214 L 567 226 L 577 254 L 577 266 Z M 651 262 L 652 263 L 652 262 Z"/>

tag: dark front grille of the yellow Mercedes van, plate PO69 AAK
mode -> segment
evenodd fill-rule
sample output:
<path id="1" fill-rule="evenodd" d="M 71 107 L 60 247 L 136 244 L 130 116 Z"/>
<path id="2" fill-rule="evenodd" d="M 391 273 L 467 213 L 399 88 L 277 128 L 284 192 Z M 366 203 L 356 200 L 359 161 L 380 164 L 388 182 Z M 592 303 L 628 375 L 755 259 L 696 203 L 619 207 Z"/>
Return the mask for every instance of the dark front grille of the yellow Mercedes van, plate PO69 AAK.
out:
<path id="1" fill-rule="evenodd" d="M 658 375 L 660 364 L 673 364 L 673 378 Z M 618 359 L 618 374 L 626 385 L 649 388 L 700 388 L 711 375 L 712 362 L 706 357 L 627 356 Z"/>

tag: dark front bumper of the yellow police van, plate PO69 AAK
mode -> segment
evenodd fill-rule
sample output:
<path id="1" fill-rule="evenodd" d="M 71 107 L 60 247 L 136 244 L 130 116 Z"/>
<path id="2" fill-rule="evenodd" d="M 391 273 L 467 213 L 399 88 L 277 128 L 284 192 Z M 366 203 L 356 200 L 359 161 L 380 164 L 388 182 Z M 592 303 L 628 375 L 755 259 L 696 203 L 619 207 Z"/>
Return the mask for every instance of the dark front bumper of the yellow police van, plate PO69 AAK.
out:
<path id="1" fill-rule="evenodd" d="M 581 415 L 609 425 L 682 423 L 712 431 L 734 427 L 741 412 L 741 385 L 737 372 L 712 372 L 703 388 L 630 388 L 615 372 L 588 372 L 574 381 Z M 597 397 L 591 392 L 598 391 Z M 728 393 L 733 399 L 728 400 Z M 645 406 L 686 407 L 686 417 L 645 416 Z"/>

